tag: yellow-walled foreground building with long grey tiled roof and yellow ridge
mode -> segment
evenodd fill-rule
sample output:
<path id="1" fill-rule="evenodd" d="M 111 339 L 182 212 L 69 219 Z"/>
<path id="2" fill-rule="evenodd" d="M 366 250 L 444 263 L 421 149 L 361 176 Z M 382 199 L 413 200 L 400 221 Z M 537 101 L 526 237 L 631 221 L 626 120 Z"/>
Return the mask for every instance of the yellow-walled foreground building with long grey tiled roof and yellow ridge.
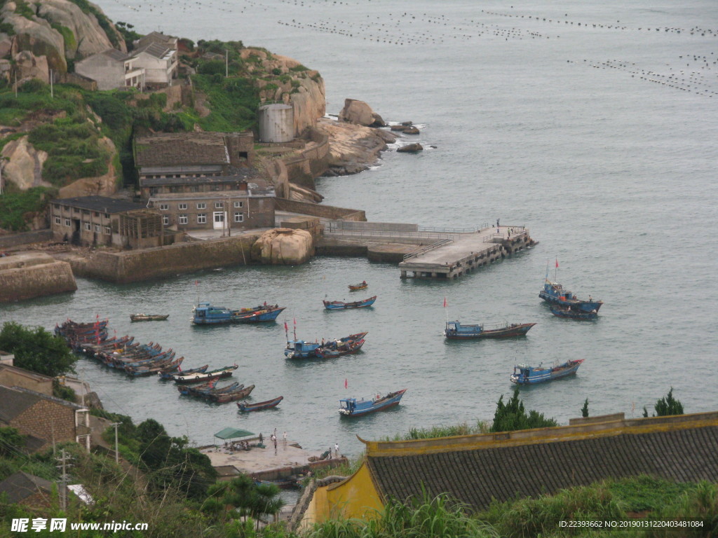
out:
<path id="1" fill-rule="evenodd" d="M 607 478 L 718 480 L 718 412 L 630 419 L 619 413 L 556 428 L 363 443 L 358 471 L 342 481 L 319 481 L 302 525 L 364 518 L 389 499 L 424 494 L 447 493 L 481 511 L 493 500 L 551 495 Z"/>

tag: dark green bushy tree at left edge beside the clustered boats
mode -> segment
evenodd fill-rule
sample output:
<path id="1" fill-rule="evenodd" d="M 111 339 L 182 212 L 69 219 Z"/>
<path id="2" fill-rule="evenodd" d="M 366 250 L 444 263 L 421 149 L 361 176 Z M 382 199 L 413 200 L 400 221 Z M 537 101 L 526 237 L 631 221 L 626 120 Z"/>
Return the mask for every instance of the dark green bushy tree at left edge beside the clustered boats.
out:
<path id="1" fill-rule="evenodd" d="M 78 361 L 62 338 L 43 327 L 25 327 L 14 321 L 3 325 L 0 349 L 15 355 L 15 366 L 50 377 L 75 373 Z"/>

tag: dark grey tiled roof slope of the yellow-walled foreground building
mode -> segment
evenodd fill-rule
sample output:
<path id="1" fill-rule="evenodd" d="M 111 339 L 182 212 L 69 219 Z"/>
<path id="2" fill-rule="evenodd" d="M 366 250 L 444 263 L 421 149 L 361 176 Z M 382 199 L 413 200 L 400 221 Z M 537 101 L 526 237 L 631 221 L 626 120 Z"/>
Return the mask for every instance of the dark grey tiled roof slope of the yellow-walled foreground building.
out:
<path id="1" fill-rule="evenodd" d="M 605 478 L 649 474 L 677 482 L 718 481 L 718 426 L 547 439 L 366 460 L 383 501 L 446 492 L 474 509 L 492 499 L 551 494 Z"/>

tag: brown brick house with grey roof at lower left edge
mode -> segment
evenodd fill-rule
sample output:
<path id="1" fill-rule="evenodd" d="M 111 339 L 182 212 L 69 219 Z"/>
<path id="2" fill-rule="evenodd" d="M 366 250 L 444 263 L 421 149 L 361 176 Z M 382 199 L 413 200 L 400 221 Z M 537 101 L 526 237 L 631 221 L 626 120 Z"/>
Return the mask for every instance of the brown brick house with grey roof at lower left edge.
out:
<path id="1" fill-rule="evenodd" d="M 0 386 L 0 426 L 52 443 L 71 441 L 90 450 L 90 410 L 87 407 L 22 387 Z"/>

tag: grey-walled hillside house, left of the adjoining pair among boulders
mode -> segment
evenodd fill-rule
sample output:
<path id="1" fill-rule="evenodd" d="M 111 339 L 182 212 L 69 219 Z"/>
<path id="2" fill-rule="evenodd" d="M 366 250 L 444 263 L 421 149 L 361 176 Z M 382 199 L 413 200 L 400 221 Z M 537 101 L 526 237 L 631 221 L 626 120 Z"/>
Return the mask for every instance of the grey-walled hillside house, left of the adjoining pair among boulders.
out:
<path id="1" fill-rule="evenodd" d="M 107 49 L 75 63 L 75 72 L 97 82 L 98 90 L 138 88 L 144 90 L 142 60 L 117 49 Z"/>

